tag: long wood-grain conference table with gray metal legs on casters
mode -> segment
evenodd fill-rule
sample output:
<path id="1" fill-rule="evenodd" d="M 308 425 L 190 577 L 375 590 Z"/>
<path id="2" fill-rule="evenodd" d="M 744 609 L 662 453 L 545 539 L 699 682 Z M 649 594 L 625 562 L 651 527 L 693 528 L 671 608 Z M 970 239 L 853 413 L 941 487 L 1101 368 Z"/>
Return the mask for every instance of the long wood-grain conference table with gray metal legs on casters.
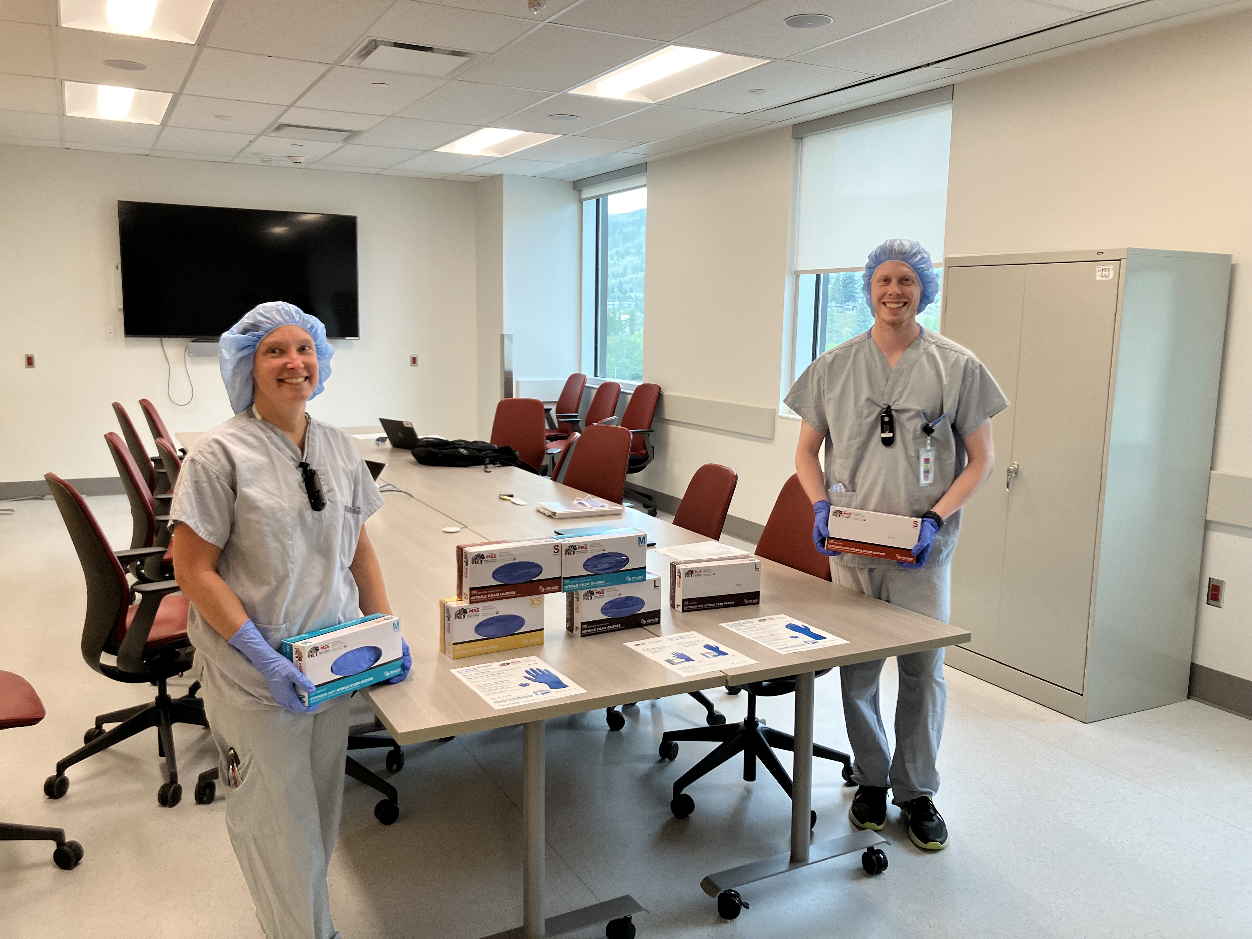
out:
<path id="1" fill-rule="evenodd" d="M 646 532 L 650 548 L 654 542 L 655 548 L 669 548 L 707 538 L 629 507 L 617 516 L 557 523 L 537 512 L 536 503 L 568 502 L 585 493 L 516 467 L 495 466 L 485 472 L 481 467 L 421 466 L 408 451 L 378 446 L 376 438 L 382 432 L 376 428 L 344 429 L 353 434 L 358 451 L 367 461 L 386 463 L 378 478 L 386 503 L 368 521 L 368 532 L 383 568 L 392 610 L 403 623 L 413 657 L 411 680 L 374 686 L 363 691 L 363 697 L 401 745 L 522 725 L 523 923 L 490 939 L 561 935 L 606 921 L 610 923 L 606 930 L 610 936 L 626 936 L 634 934 L 629 918 L 644 910 L 627 894 L 551 918 L 546 915 L 543 722 L 550 717 L 795 676 L 790 850 L 710 874 L 701 881 L 701 889 L 719 896 L 744 884 L 886 843 L 883 835 L 874 831 L 854 831 L 820 844 L 811 843 L 815 672 L 968 642 L 969 632 L 762 560 L 760 606 L 682 613 L 662 605 L 661 622 L 656 626 L 575 637 L 565 630 L 563 595 L 550 595 L 545 602 L 542 646 L 453 661 L 439 651 L 442 623 L 438 601 L 456 592 L 457 545 L 547 537 L 555 528 L 563 531 L 610 523 Z M 197 433 L 179 434 L 188 448 L 197 437 Z M 502 498 L 501 493 L 508 493 L 511 498 Z M 513 500 L 526 505 L 517 505 Z M 649 570 L 662 578 L 662 596 L 669 596 L 669 558 L 650 550 Z M 720 625 L 775 613 L 828 630 L 846 642 L 784 655 Z M 626 645 L 649 636 L 687 631 L 696 631 L 719 646 L 739 650 L 756 662 L 684 677 Z M 508 661 L 521 655 L 538 656 L 586 691 L 496 710 L 452 671 L 466 665 Z"/>

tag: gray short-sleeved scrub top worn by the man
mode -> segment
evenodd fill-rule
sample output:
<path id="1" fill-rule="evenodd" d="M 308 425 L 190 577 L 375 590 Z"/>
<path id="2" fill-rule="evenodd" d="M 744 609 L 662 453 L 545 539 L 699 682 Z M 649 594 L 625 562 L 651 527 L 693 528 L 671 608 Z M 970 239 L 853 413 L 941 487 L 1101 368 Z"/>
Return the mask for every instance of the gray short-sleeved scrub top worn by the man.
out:
<path id="1" fill-rule="evenodd" d="M 791 391 L 786 404 L 826 436 L 826 498 L 831 506 L 890 512 L 914 518 L 929 512 L 965 466 L 962 437 L 1009 406 L 992 373 L 974 353 L 925 329 L 891 368 L 886 356 L 861 333 L 819 356 Z M 886 406 L 895 416 L 895 444 L 879 442 L 878 416 Z M 920 485 L 919 452 L 930 422 L 947 414 L 930 438 L 935 449 L 934 481 Z M 841 483 L 845 492 L 829 492 Z M 952 561 L 960 512 L 944 520 L 925 567 Z M 844 567 L 880 566 L 861 555 L 833 558 Z"/>

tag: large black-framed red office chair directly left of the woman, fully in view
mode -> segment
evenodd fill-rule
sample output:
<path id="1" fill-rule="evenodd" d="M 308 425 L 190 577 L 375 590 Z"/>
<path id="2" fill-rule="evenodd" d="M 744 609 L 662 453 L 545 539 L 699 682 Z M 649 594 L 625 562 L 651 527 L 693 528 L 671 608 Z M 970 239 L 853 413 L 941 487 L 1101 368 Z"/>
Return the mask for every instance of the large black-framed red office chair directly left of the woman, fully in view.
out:
<path id="1" fill-rule="evenodd" d="M 170 677 L 192 667 L 195 650 L 187 637 L 189 601 L 178 592 L 178 583 L 173 580 L 131 586 L 123 562 L 133 557 L 160 556 L 165 548 L 114 551 L 83 496 L 54 473 L 46 473 L 44 480 L 53 491 L 86 578 L 81 642 L 84 661 L 93 671 L 113 681 L 156 685 L 156 699 L 151 704 L 99 715 L 83 735 L 84 746 L 59 761 L 56 772 L 44 781 L 44 795 L 60 799 L 69 790 L 65 770 L 70 766 L 148 727 L 156 727 L 158 754 L 169 769 L 169 781 L 162 784 L 156 801 L 167 808 L 178 805 L 183 788 L 178 782 L 173 726 L 209 725 L 204 716 L 204 701 L 195 697 L 195 685 L 183 697 L 170 697 L 165 687 Z M 114 662 L 105 661 L 104 656 L 114 657 Z M 106 731 L 105 724 L 118 726 Z M 202 800 L 198 788 L 197 801 L 213 801 L 212 793 Z"/>

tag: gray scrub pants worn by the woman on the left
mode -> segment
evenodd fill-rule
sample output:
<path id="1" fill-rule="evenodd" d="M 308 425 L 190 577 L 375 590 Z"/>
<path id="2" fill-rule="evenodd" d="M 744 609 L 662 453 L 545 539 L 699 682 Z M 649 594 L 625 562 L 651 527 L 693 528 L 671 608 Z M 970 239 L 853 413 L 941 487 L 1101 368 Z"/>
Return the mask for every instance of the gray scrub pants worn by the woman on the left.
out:
<path id="1" fill-rule="evenodd" d="M 227 831 L 267 939 L 339 938 L 326 870 L 339 834 L 351 697 L 290 714 L 249 711 L 205 695 Z M 232 747 L 240 760 L 237 789 L 227 776 Z"/>

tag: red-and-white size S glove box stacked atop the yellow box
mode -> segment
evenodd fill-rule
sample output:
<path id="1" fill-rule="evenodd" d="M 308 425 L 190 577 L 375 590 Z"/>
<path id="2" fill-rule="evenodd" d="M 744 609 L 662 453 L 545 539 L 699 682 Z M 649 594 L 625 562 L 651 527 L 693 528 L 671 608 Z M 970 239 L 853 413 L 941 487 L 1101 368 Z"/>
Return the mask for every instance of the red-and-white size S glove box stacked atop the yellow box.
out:
<path id="1" fill-rule="evenodd" d="M 561 545 L 553 538 L 457 545 L 457 596 L 472 602 L 561 592 Z"/>

